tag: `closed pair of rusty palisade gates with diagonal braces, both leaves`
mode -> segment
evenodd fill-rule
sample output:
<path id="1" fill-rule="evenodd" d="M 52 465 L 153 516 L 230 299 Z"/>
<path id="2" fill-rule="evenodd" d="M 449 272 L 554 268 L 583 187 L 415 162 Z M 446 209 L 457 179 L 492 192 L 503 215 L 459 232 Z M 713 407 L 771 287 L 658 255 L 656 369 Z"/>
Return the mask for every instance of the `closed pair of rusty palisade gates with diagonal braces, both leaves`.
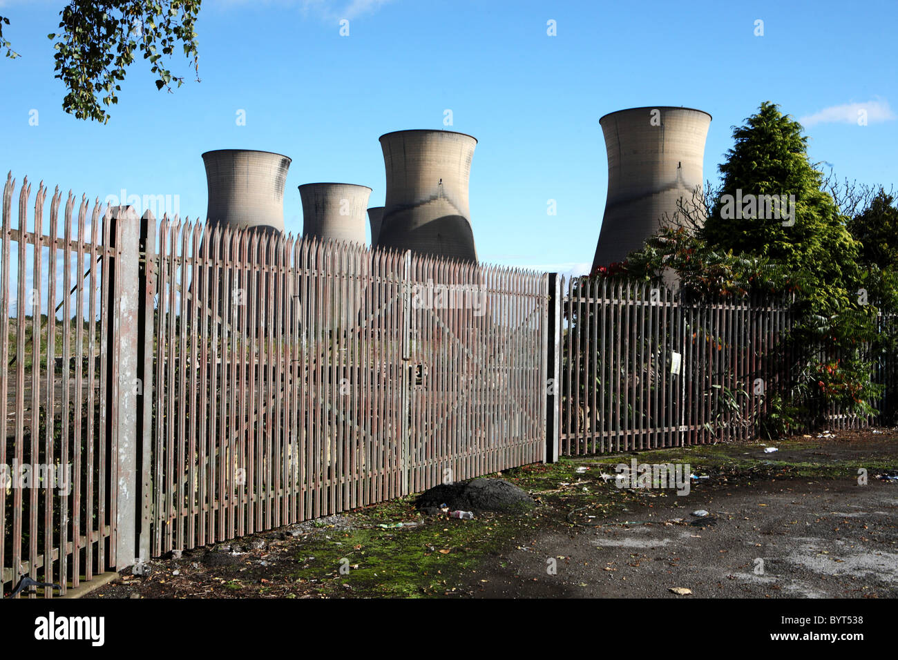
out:
<path id="1" fill-rule="evenodd" d="M 166 219 L 147 254 L 150 555 L 542 460 L 545 276 Z"/>

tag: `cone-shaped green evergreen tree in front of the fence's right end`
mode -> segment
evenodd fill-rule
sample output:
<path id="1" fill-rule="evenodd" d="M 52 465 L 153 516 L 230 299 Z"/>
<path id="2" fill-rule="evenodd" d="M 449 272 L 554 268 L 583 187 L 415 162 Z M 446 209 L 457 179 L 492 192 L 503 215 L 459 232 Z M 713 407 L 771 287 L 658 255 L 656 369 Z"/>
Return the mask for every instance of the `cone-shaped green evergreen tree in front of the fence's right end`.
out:
<path id="1" fill-rule="evenodd" d="M 835 313 L 852 304 L 859 245 L 823 191 L 802 132 L 770 101 L 734 128 L 735 145 L 719 166 L 720 194 L 701 235 L 711 249 L 779 263 L 803 283 L 815 311 Z"/>

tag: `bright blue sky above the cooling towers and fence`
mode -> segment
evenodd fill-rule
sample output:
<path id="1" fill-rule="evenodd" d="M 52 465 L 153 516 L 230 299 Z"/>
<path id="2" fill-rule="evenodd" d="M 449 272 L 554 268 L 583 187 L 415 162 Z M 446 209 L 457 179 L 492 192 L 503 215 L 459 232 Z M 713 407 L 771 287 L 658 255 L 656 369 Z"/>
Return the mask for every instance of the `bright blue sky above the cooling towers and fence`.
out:
<path id="1" fill-rule="evenodd" d="M 0 59 L 0 167 L 79 196 L 177 195 L 182 216 L 202 216 L 200 154 L 274 151 L 293 159 L 285 221 L 301 233 L 298 185 L 363 184 L 374 189 L 371 206 L 383 204 L 378 136 L 450 128 L 480 141 L 471 170 L 480 260 L 580 271 L 602 223 L 603 114 L 707 110 L 714 119 L 705 178 L 713 180 L 731 127 L 767 100 L 806 119 L 812 159 L 832 163 L 841 178 L 898 182 L 894 0 L 206 0 L 202 82 L 175 57 L 170 68 L 187 84 L 156 92 L 139 60 L 107 125 L 61 109 L 47 34 L 64 4 L 0 0 L 12 23 L 4 36 L 22 55 Z M 341 18 L 348 37 L 339 34 Z M 758 19 L 762 37 L 754 35 Z M 557 36 L 547 35 L 550 20 Z M 868 111 L 867 126 L 855 121 L 858 107 Z M 547 215 L 549 199 L 557 216 Z"/>

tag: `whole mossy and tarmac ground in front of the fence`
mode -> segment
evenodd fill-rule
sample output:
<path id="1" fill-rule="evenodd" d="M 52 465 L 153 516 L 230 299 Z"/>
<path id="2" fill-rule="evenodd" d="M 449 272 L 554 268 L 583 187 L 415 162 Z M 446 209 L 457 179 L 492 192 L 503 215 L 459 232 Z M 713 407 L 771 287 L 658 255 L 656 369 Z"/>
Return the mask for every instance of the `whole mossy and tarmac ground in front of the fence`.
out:
<path id="1" fill-rule="evenodd" d="M 526 466 L 500 475 L 536 500 L 526 512 L 455 520 L 421 515 L 407 497 L 154 559 L 148 575 L 90 597 L 898 596 L 898 484 L 876 478 L 898 469 L 898 429 L 763 450 L 706 445 Z M 607 473 L 634 457 L 690 462 L 709 479 L 683 496 L 615 488 Z M 867 464 L 878 467 L 859 485 Z M 700 509 L 709 515 L 693 515 Z"/>

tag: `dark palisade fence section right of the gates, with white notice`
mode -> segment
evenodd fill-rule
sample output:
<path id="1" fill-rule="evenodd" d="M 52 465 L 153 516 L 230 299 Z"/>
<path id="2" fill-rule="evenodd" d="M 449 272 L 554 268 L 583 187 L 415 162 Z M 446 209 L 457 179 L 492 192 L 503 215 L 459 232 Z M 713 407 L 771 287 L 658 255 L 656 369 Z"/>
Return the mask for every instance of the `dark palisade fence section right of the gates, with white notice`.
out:
<path id="1" fill-rule="evenodd" d="M 751 439 L 774 397 L 788 400 L 790 301 L 690 302 L 661 283 L 588 277 L 562 280 L 559 298 L 561 454 Z M 894 418 L 894 360 L 875 372 L 885 385 L 879 418 L 832 403 L 822 415 L 830 427 Z"/>

